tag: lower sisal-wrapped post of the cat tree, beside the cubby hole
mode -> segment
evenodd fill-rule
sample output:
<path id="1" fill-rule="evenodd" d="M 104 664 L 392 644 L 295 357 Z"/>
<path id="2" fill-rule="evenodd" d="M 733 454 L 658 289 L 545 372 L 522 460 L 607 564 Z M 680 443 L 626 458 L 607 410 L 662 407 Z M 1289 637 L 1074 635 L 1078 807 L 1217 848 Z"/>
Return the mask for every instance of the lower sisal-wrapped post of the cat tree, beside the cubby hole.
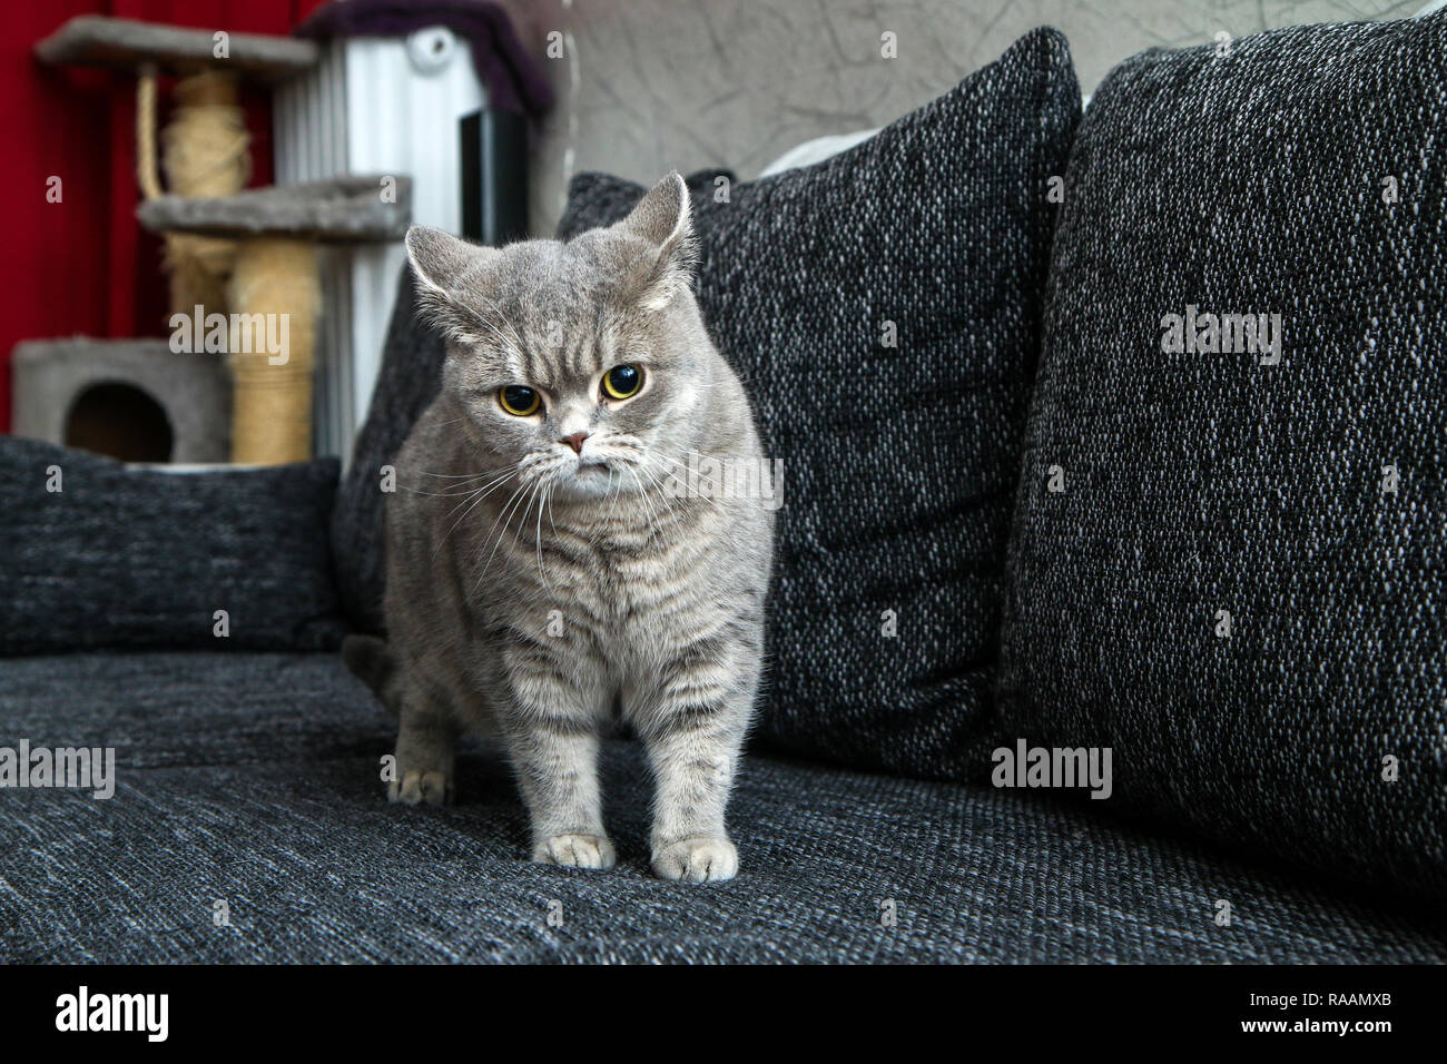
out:
<path id="1" fill-rule="evenodd" d="M 321 303 L 315 245 L 287 237 L 243 242 L 227 303 L 232 462 L 282 465 L 311 457 L 311 371 Z M 281 352 L 273 350 L 278 346 Z M 285 362 L 273 365 L 282 356 Z"/>

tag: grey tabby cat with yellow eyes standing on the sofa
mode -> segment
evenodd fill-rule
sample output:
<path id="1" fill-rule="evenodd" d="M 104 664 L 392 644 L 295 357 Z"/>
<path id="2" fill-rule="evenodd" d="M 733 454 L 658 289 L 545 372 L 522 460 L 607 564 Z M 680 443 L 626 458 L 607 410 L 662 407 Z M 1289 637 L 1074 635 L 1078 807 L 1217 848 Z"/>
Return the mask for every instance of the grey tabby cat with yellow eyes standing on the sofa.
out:
<path id="1" fill-rule="evenodd" d="M 748 400 L 690 291 L 690 233 L 671 174 L 569 243 L 407 235 L 449 345 L 388 501 L 379 686 L 401 718 L 394 801 L 447 801 L 459 734 L 489 731 L 532 858 L 582 869 L 614 864 L 595 761 L 621 714 L 657 783 L 653 869 L 700 883 L 738 870 L 724 809 L 760 683 L 773 514 Z M 763 491 L 706 475 L 666 491 L 690 453 L 758 469 Z"/>

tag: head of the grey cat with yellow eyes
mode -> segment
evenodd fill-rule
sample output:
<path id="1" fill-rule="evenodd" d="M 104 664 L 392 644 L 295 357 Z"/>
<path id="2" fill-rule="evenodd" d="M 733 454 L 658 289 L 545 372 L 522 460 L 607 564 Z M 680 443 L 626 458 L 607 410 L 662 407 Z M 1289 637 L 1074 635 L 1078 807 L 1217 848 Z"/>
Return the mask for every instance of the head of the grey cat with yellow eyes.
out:
<path id="1" fill-rule="evenodd" d="M 653 494 L 697 449 L 719 356 L 690 291 L 677 174 L 567 243 L 480 248 L 414 226 L 407 252 L 447 334 L 443 388 L 492 468 L 576 501 Z"/>

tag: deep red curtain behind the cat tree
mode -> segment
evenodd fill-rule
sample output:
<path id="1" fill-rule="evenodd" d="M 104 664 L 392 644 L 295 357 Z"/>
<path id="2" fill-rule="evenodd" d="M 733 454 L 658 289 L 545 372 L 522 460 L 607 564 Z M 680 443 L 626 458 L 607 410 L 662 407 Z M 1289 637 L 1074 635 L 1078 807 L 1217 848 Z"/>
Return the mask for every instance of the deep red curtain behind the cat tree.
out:
<path id="1" fill-rule="evenodd" d="M 75 14 L 287 33 L 321 0 L 46 0 L 0 13 L 0 431 L 10 427 L 10 352 L 20 340 L 161 336 L 166 284 L 161 243 L 135 220 L 136 83 L 122 72 L 55 69 L 35 42 Z M 162 81 L 162 100 L 169 83 Z M 271 182 L 268 93 L 243 98 L 252 184 Z M 162 122 L 165 113 L 162 110 Z M 59 177 L 62 201 L 46 201 Z"/>

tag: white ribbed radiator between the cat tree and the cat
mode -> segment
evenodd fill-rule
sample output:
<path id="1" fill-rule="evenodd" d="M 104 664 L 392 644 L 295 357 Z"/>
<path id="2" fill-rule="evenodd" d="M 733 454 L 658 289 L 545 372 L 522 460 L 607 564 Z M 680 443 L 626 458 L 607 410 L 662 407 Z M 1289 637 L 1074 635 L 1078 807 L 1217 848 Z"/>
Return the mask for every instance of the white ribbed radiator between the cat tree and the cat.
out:
<path id="1" fill-rule="evenodd" d="M 457 120 L 483 106 L 467 42 L 444 26 L 323 43 L 311 72 L 272 97 L 276 184 L 344 174 L 412 178 L 412 221 L 462 227 Z M 378 190 L 381 193 L 381 190 Z M 321 253 L 314 446 L 350 457 L 407 261 L 399 243 Z"/>

